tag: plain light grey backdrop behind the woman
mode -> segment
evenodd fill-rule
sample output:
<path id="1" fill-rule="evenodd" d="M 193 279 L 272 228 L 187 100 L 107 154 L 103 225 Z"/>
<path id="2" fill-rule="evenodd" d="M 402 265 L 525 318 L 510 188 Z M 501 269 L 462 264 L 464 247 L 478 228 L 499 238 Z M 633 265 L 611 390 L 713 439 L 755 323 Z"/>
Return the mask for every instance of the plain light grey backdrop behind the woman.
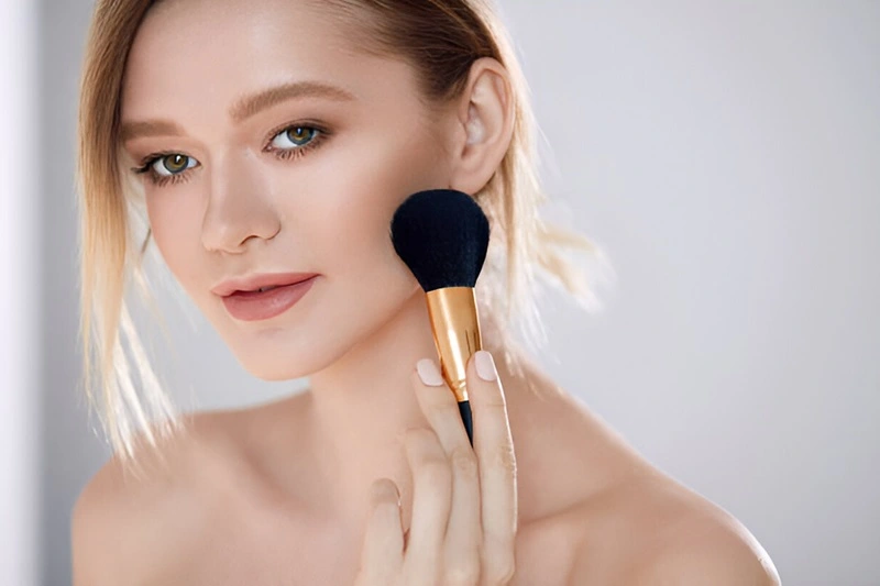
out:
<path id="1" fill-rule="evenodd" d="M 618 278 L 604 313 L 548 308 L 548 368 L 738 517 L 783 583 L 880 584 L 880 2 L 502 4 L 549 144 L 543 176 L 568 206 L 553 213 L 598 241 Z M 40 583 L 64 585 L 70 509 L 109 455 L 73 394 L 91 2 L 38 5 L 42 406 L 29 441 L 42 446 Z M 202 320 L 194 332 L 160 299 L 182 402 L 298 387 L 252 380 Z"/>

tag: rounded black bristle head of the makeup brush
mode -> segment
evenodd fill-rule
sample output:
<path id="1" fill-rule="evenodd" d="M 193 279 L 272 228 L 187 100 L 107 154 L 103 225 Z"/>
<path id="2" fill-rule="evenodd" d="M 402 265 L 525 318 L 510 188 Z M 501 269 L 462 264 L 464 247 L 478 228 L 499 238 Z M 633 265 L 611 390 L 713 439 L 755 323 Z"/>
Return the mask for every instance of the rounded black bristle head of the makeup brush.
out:
<path id="1" fill-rule="evenodd" d="M 468 194 L 429 189 L 394 213 L 392 243 L 425 292 L 474 287 L 488 248 L 488 220 Z"/>

